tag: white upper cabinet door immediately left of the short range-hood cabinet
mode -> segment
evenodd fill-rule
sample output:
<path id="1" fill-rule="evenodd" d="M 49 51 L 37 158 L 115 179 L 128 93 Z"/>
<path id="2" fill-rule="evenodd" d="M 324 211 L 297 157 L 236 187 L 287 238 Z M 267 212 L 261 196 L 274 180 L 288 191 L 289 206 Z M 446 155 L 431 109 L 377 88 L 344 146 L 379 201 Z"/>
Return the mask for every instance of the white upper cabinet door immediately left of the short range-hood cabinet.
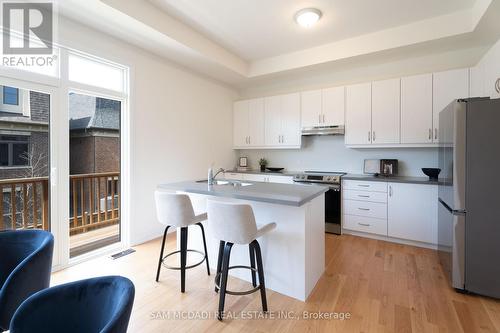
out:
<path id="1" fill-rule="evenodd" d="M 281 98 L 281 145 L 300 146 L 300 94 Z"/>

